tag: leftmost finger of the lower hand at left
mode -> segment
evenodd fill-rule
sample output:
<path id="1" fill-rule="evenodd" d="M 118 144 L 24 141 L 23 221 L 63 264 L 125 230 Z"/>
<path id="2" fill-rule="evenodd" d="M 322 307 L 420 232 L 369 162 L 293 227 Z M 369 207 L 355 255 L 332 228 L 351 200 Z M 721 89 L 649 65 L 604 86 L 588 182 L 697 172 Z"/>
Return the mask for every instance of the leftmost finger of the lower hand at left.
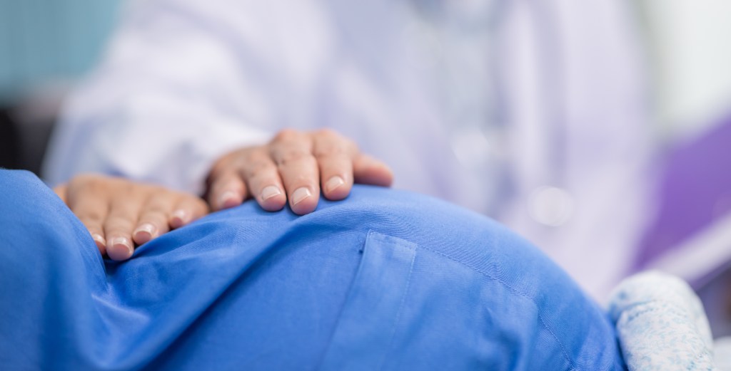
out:
<path id="1" fill-rule="evenodd" d="M 107 240 L 103 224 L 109 211 L 109 203 L 94 187 L 83 187 L 79 190 L 83 192 L 83 197 L 78 197 L 74 192 L 67 192 L 67 203 L 91 234 L 99 253 L 104 255 L 107 253 Z"/>

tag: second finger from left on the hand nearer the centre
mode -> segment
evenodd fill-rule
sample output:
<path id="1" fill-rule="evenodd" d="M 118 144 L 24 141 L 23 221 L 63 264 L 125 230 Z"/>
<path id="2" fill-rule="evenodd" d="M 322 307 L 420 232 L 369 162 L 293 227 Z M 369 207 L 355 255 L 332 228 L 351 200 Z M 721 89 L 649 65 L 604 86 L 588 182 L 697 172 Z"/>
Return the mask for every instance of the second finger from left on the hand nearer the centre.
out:
<path id="1" fill-rule="evenodd" d="M 243 162 L 240 175 L 246 180 L 251 195 L 266 211 L 278 211 L 287 203 L 279 169 L 265 147 L 252 151 Z"/>

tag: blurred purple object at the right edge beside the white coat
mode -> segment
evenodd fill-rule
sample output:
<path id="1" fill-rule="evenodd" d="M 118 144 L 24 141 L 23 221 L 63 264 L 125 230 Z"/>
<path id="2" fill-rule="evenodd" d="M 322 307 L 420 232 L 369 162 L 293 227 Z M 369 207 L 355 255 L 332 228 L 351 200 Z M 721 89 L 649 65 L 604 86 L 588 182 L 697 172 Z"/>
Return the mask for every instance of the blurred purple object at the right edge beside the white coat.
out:
<path id="1" fill-rule="evenodd" d="M 731 210 L 731 114 L 699 138 L 670 151 L 658 201 L 657 217 L 638 249 L 637 270 Z"/>

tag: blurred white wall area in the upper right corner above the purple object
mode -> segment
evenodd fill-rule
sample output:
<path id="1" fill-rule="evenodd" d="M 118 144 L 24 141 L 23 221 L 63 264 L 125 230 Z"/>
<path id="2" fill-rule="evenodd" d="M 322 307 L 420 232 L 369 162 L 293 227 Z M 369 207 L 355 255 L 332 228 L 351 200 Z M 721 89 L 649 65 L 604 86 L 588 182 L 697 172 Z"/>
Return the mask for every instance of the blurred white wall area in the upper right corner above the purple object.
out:
<path id="1" fill-rule="evenodd" d="M 731 1 L 640 0 L 657 119 L 671 142 L 731 115 Z"/>

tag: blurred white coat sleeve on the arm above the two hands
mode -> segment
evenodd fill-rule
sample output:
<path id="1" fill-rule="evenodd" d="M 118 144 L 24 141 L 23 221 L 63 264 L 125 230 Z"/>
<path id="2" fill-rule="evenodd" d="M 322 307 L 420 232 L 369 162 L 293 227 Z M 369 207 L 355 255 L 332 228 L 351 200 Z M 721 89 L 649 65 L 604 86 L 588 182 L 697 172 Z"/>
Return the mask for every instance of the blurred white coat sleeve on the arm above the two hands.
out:
<path id="1" fill-rule="evenodd" d="M 200 194 L 216 158 L 272 135 L 257 126 L 268 122 L 263 98 L 246 87 L 215 13 L 194 1 L 135 5 L 65 106 L 44 176 L 58 184 L 100 172 Z"/>

